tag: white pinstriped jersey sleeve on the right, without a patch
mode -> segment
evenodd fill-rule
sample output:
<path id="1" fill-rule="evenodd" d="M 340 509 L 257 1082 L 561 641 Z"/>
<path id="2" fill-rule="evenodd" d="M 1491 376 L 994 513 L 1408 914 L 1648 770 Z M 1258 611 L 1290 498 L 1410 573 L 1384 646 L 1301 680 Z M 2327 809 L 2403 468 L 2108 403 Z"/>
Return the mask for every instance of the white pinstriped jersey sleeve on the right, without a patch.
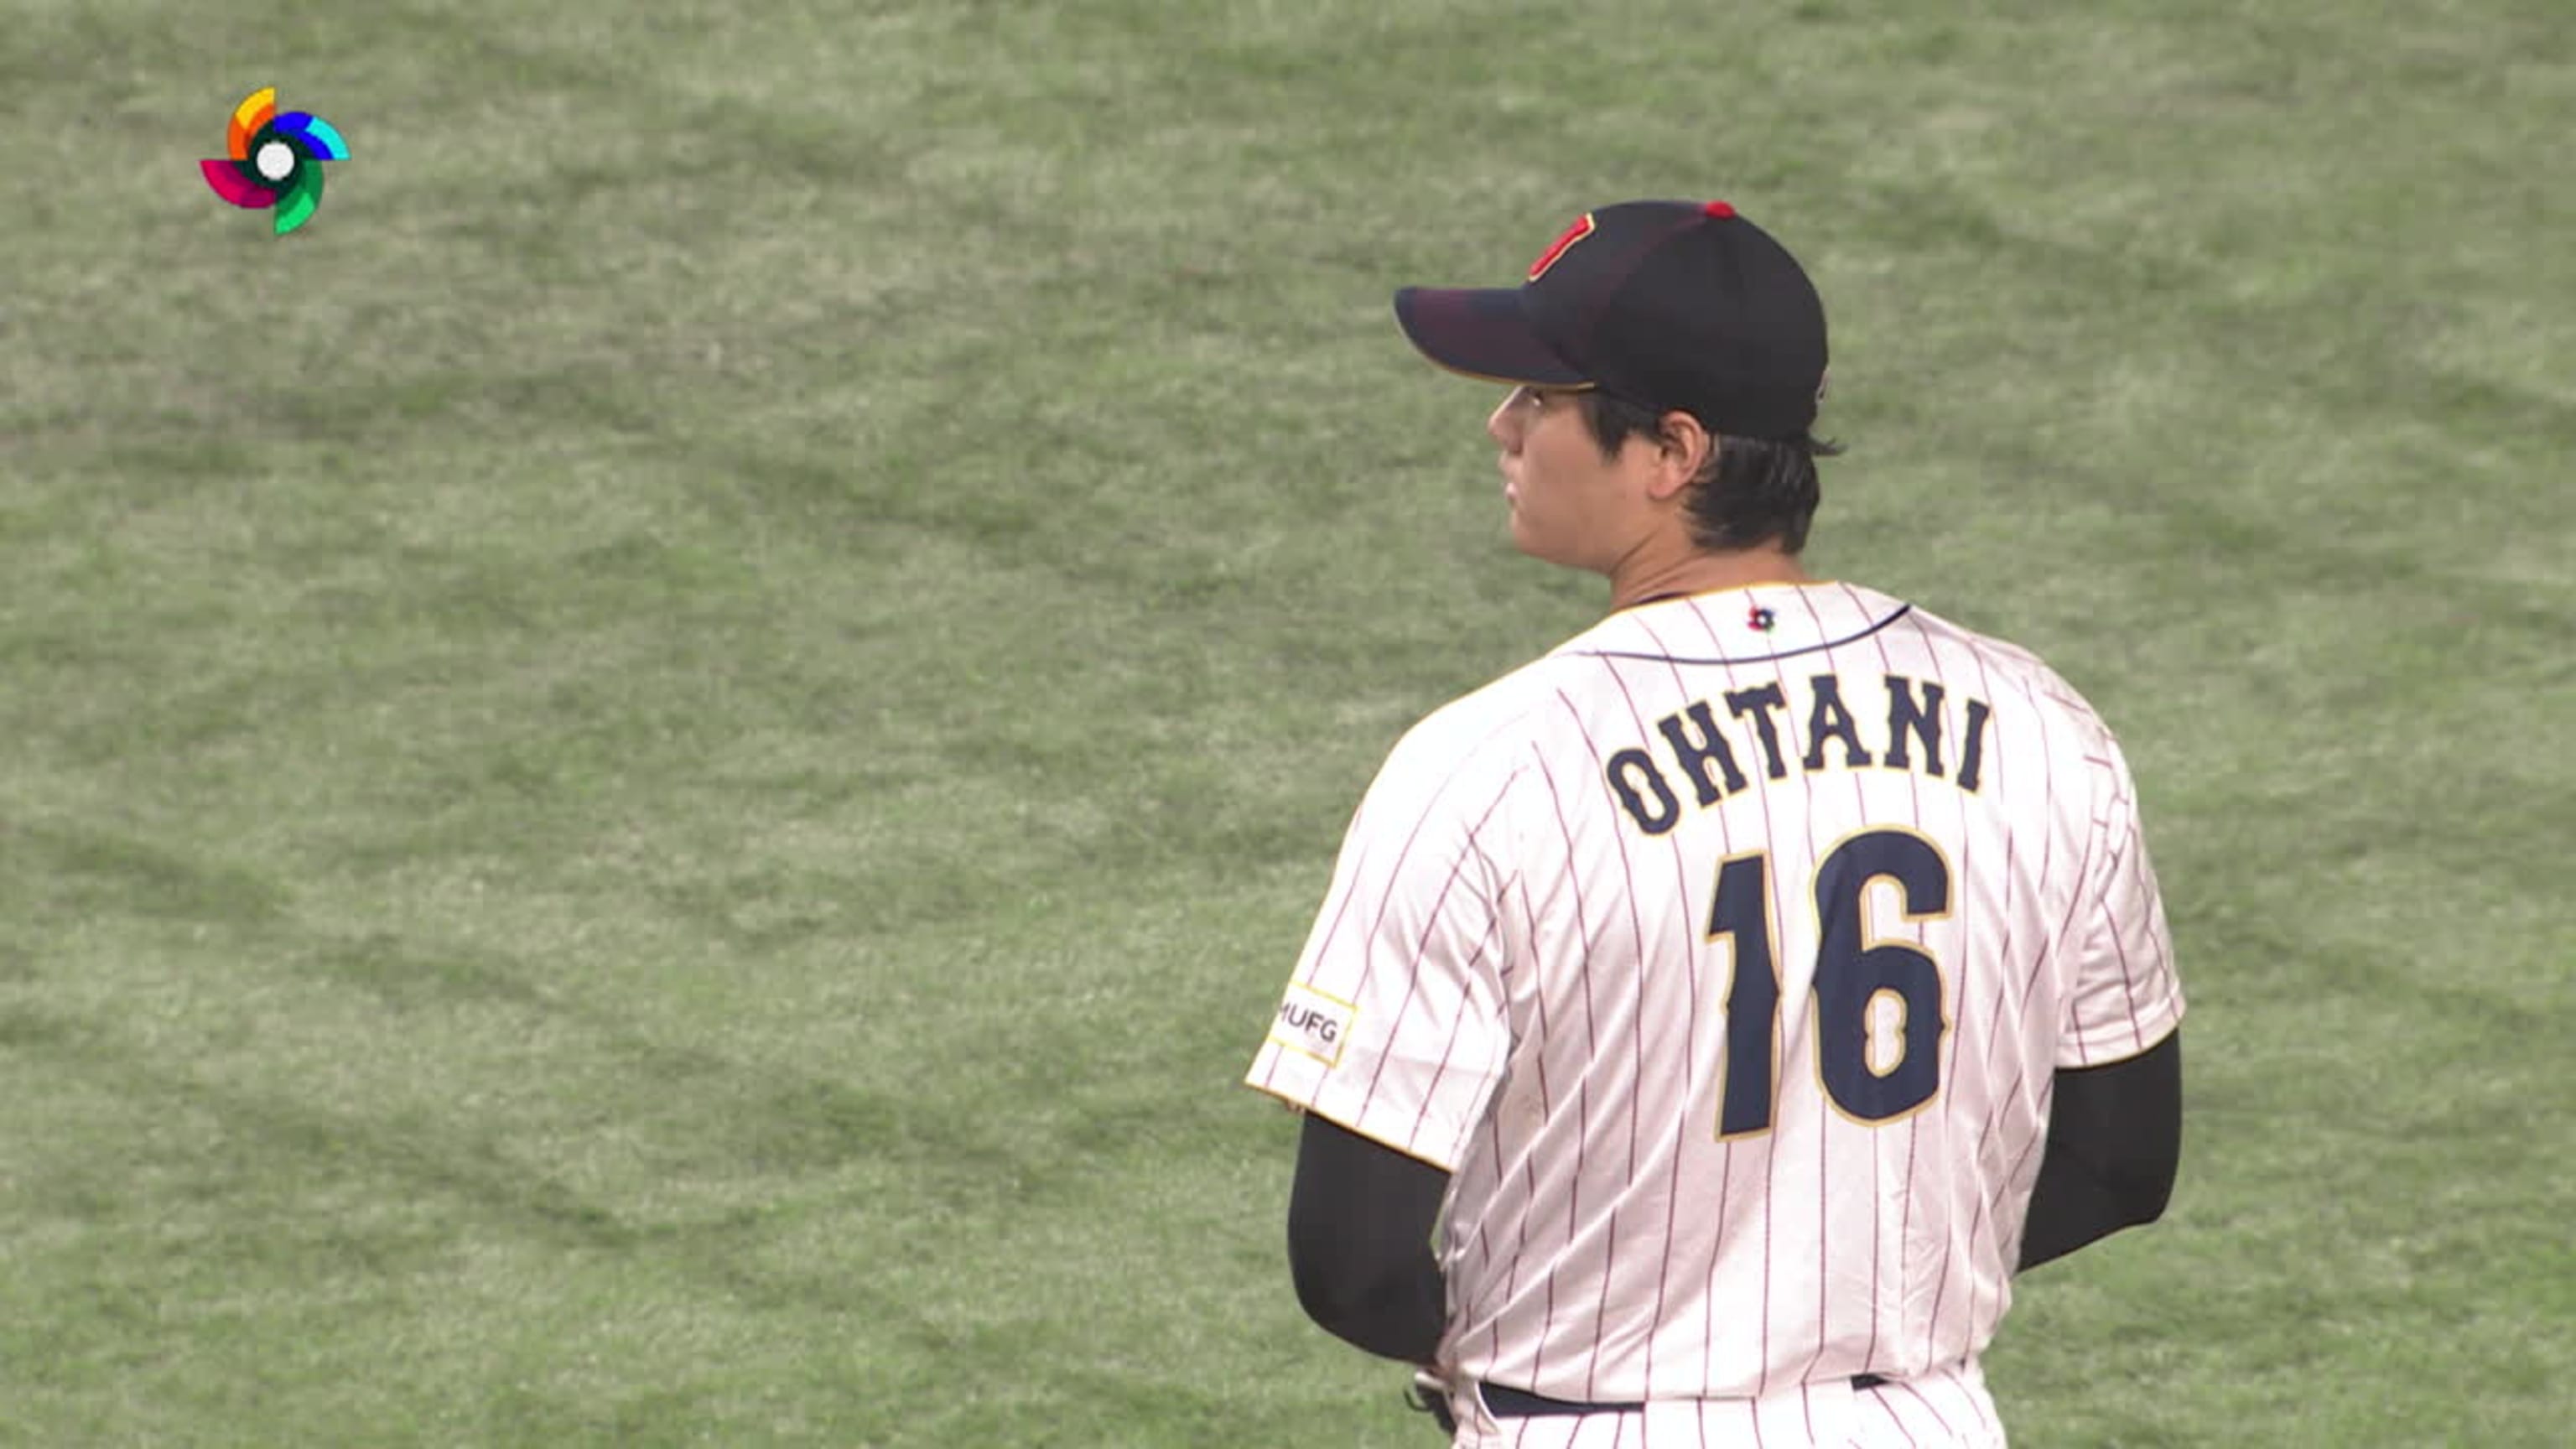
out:
<path id="1" fill-rule="evenodd" d="M 2105 732 L 2094 771 L 2092 851 L 2076 908 L 2076 969 L 2066 993 L 2058 1067 L 2099 1067 L 2164 1042 L 2182 1021 L 2182 980 L 2146 856 L 2128 758 Z"/>

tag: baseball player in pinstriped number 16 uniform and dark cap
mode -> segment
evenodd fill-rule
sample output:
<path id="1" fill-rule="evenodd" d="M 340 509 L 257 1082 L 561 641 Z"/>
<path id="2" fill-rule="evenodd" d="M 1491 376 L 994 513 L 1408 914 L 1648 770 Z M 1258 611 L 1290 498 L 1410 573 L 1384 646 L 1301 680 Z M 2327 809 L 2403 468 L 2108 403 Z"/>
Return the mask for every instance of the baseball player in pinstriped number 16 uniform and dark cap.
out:
<path id="1" fill-rule="evenodd" d="M 2017 1271 L 2172 1191 L 2128 763 L 2038 657 L 1811 578 L 1824 307 L 1723 201 L 1404 289 L 1607 616 L 1396 743 L 1249 1085 L 1309 1315 L 1455 1444 L 2004 1444 Z"/>

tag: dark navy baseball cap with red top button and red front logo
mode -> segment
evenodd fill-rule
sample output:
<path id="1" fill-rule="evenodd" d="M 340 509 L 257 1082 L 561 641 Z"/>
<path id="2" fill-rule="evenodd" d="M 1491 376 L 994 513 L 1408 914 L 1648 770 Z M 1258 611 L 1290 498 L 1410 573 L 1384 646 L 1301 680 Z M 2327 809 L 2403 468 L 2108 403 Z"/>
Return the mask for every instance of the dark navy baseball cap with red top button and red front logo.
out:
<path id="1" fill-rule="evenodd" d="M 1790 438 L 1824 400 L 1824 302 L 1726 201 L 1587 211 L 1520 286 L 1406 286 L 1396 322 L 1450 371 L 1597 387 L 1713 433 Z"/>

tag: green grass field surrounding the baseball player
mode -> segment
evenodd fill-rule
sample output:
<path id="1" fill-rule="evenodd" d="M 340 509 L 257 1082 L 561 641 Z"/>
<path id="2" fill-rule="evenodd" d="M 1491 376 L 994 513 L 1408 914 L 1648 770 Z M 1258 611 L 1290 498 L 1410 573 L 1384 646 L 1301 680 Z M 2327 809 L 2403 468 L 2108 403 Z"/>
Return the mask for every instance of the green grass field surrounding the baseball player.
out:
<path id="1" fill-rule="evenodd" d="M 2184 1181 L 2017 1441 L 2576 1434 L 2563 0 L 8 0 L 0 116 L 0 1444 L 1430 1444 L 1234 1083 L 1600 606 L 1386 294 L 1625 196 L 2141 779 Z"/>

